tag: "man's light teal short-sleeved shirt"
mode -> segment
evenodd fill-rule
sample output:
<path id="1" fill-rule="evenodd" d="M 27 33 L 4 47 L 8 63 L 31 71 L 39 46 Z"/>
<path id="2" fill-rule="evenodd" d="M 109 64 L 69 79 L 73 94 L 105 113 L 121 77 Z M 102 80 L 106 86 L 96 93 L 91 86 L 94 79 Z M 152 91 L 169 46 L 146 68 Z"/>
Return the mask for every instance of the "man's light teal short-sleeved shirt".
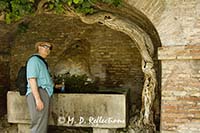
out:
<path id="1" fill-rule="evenodd" d="M 26 76 L 28 81 L 26 95 L 31 93 L 29 78 L 36 78 L 38 87 L 44 88 L 49 96 L 53 95 L 54 84 L 52 78 L 45 63 L 37 56 L 33 56 L 28 60 Z"/>

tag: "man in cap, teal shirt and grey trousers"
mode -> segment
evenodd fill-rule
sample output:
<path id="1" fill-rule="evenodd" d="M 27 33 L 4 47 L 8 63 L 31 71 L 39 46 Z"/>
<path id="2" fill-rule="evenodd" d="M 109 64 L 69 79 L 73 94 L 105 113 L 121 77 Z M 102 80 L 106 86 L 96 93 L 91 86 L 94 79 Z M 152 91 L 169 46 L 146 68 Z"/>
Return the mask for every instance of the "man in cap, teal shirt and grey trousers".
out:
<path id="1" fill-rule="evenodd" d="M 48 42 L 35 44 L 37 55 L 46 58 L 52 49 Z M 49 102 L 53 94 L 53 81 L 47 65 L 37 56 L 32 56 L 27 63 L 27 102 L 31 116 L 31 133 L 47 133 Z"/>

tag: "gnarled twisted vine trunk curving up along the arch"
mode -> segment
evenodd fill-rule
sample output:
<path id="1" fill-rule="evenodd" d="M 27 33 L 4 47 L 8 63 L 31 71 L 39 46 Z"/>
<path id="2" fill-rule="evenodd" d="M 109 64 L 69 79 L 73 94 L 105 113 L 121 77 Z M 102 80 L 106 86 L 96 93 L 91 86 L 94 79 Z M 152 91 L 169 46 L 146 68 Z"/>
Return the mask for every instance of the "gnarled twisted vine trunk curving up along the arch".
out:
<path id="1" fill-rule="evenodd" d="M 87 24 L 100 23 L 113 30 L 123 32 L 136 42 L 142 57 L 142 71 L 144 73 L 145 81 L 142 92 L 142 109 L 140 111 L 140 117 L 135 122 L 136 124 L 131 126 L 134 130 L 137 130 L 139 127 L 139 129 L 143 131 L 155 131 L 152 106 L 155 99 L 157 80 L 153 61 L 155 52 L 155 43 L 153 43 L 153 40 L 158 42 L 159 36 L 156 34 L 155 28 L 148 19 L 143 20 L 145 21 L 144 25 L 142 25 L 142 22 L 139 24 L 138 22 L 134 22 L 136 18 L 141 20 L 145 18 L 145 16 L 142 16 L 143 14 L 136 13 L 132 18 L 130 15 L 124 16 L 122 14 L 102 11 L 87 17 L 81 16 L 80 18 Z M 151 29 L 154 30 L 153 34 L 150 33 L 148 29 L 145 29 L 145 27 L 148 26 L 151 26 Z"/>

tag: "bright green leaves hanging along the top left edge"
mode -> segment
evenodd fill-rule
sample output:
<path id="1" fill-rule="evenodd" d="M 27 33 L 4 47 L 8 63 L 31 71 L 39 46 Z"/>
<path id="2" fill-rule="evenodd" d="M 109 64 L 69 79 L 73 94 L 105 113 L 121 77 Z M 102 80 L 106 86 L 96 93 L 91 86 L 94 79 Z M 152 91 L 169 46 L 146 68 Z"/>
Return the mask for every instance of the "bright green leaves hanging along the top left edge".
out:
<path id="1" fill-rule="evenodd" d="M 17 21 L 20 18 L 33 15 L 37 11 L 41 0 L 1 0 L 0 13 L 5 13 L 7 23 Z M 47 0 L 43 8 L 53 10 L 56 13 L 64 13 L 66 6 L 79 13 L 92 14 L 95 12 L 95 4 L 106 3 L 119 6 L 122 0 Z"/>

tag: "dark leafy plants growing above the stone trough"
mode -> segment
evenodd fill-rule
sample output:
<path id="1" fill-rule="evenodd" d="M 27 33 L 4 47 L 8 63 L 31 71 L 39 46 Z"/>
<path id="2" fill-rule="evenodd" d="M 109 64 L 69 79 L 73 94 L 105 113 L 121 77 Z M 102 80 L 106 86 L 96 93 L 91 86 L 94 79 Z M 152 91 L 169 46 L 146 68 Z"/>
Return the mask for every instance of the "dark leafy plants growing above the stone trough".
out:
<path id="1" fill-rule="evenodd" d="M 71 93 L 92 93 L 98 90 L 96 82 L 88 78 L 87 75 L 70 75 L 63 74 L 55 77 L 54 79 L 56 84 L 61 84 L 64 80 L 65 82 L 65 92 Z"/>

